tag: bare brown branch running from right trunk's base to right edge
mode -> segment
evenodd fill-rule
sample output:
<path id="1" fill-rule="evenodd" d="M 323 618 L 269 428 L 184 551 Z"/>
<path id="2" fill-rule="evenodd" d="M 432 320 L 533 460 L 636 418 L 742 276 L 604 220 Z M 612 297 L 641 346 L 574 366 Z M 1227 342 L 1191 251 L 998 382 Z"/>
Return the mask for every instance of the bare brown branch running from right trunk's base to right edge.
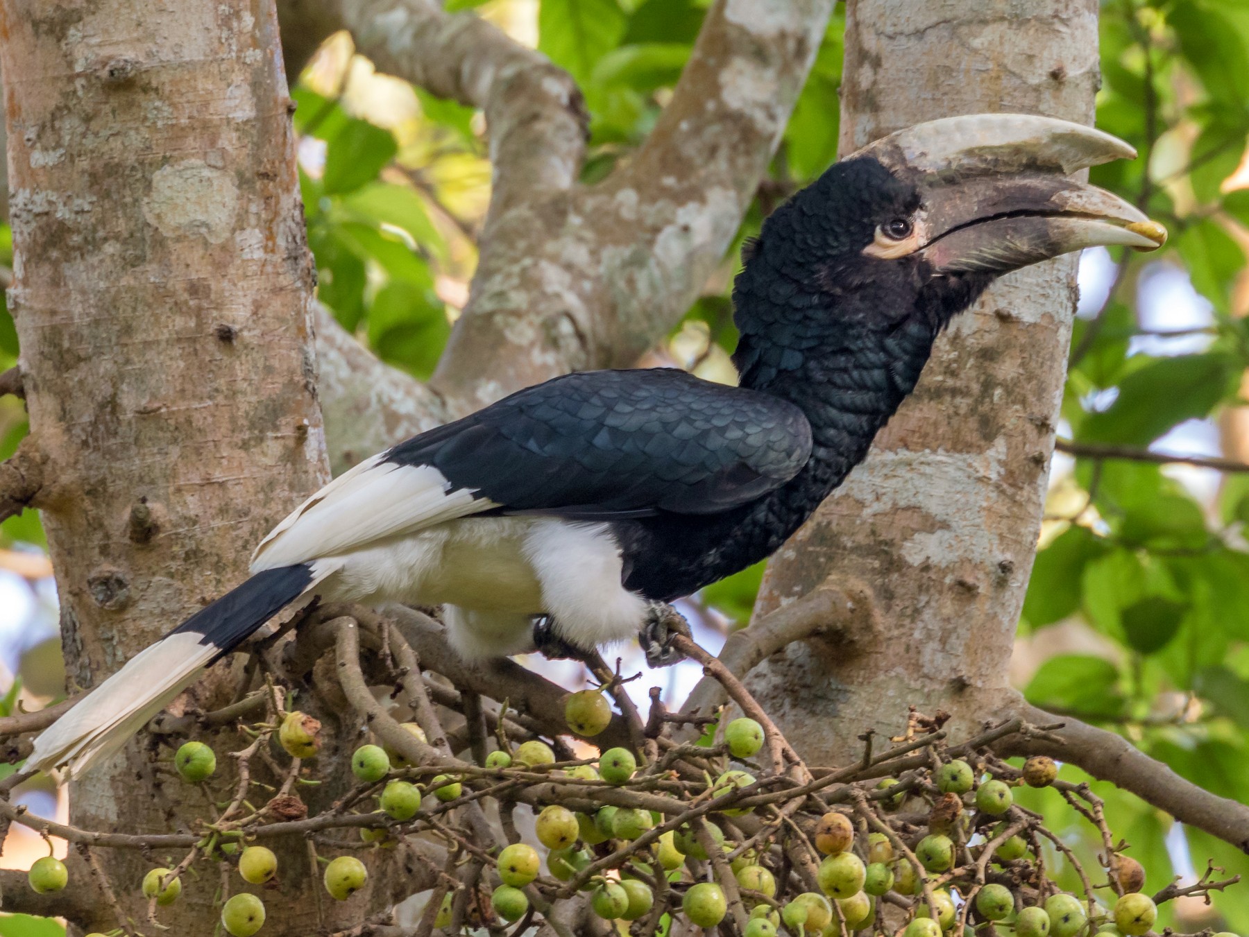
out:
<path id="1" fill-rule="evenodd" d="M 1048 712 L 1022 700 L 1014 707 L 1028 722 L 1053 722 Z M 1167 765 L 1132 745 L 1117 732 L 1074 719 L 1062 720 L 1060 729 L 1032 737 L 1013 735 L 994 745 L 1003 757 L 1048 755 L 1070 762 L 1102 781 L 1132 791 L 1147 803 L 1164 810 L 1182 823 L 1204 830 L 1249 852 L 1249 807 L 1220 797 L 1187 781 Z"/>

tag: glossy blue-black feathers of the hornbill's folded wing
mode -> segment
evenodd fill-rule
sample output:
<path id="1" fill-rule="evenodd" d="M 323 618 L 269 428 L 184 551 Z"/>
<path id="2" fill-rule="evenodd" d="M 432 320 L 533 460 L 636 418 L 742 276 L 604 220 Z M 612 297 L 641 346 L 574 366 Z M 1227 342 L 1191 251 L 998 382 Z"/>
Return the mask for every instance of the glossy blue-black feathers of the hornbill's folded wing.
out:
<path id="1" fill-rule="evenodd" d="M 713 514 L 793 478 L 811 427 L 784 401 L 676 369 L 568 374 L 390 450 L 506 514 Z"/>

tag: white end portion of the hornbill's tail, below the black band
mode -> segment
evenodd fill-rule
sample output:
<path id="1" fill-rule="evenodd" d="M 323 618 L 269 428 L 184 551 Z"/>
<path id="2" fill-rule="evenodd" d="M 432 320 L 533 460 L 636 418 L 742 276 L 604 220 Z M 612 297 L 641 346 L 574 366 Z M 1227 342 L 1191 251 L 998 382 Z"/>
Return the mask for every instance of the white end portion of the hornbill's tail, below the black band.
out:
<path id="1" fill-rule="evenodd" d="M 145 648 L 35 740 L 26 767 L 67 765 L 69 774 L 81 775 L 121 749 L 219 653 L 195 631 L 175 631 Z"/>

